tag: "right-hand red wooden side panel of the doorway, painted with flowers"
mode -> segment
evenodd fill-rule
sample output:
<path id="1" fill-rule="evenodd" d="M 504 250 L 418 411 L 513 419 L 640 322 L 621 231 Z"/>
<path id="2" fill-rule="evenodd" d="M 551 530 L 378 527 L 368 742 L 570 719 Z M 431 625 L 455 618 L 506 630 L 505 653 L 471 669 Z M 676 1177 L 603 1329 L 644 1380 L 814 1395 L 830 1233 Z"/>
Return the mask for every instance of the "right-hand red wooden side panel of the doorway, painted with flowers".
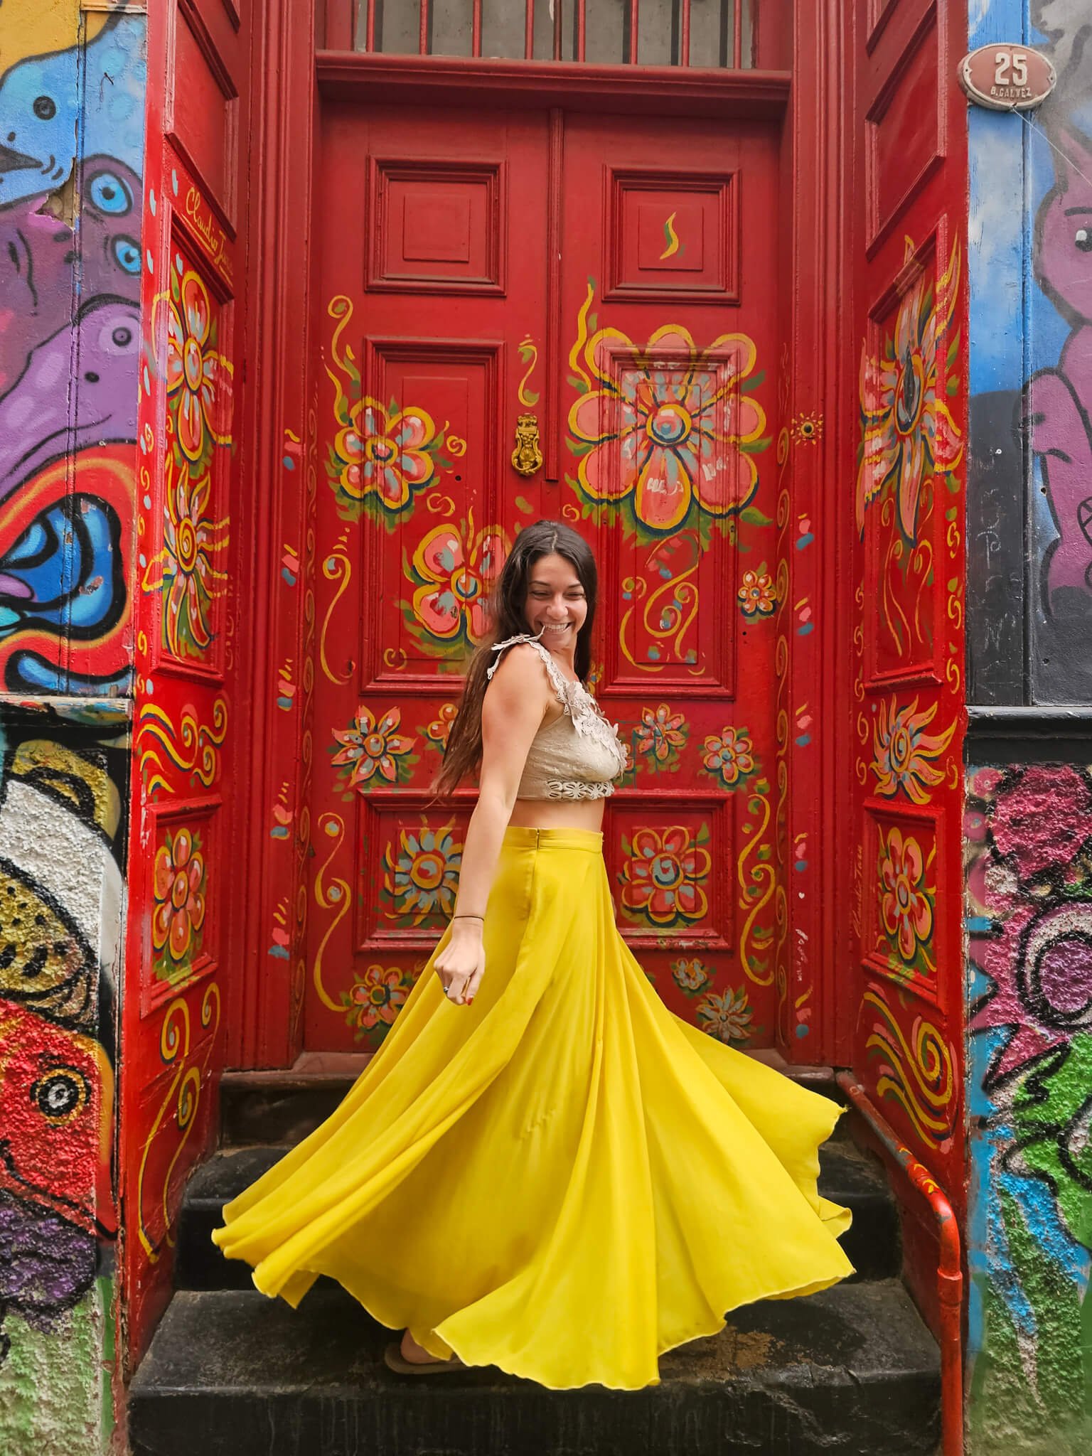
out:
<path id="1" fill-rule="evenodd" d="M 856 6 L 853 1069 L 960 1201 L 965 16 Z M 901 1185 L 900 1185 L 901 1187 Z M 936 1267 L 907 1223 L 926 1303 Z M 925 1254 L 923 1254 L 925 1249 Z"/>

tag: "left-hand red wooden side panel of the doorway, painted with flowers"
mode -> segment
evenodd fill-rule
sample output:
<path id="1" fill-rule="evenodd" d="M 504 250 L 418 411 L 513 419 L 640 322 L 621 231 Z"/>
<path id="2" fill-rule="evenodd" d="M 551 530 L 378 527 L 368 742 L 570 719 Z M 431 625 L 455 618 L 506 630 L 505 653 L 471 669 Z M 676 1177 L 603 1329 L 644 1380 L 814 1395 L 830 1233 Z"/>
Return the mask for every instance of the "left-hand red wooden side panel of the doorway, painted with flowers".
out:
<path id="1" fill-rule="evenodd" d="M 131 1356 L 170 1297 L 175 1220 L 215 1136 L 221 965 L 237 856 L 240 703 L 229 622 L 240 459 L 249 16 L 234 0 L 149 12 L 141 233 L 134 799 L 122 1005 L 124 1274 Z M 233 520 L 234 517 L 234 520 Z M 245 559 L 245 558 L 243 558 Z"/>

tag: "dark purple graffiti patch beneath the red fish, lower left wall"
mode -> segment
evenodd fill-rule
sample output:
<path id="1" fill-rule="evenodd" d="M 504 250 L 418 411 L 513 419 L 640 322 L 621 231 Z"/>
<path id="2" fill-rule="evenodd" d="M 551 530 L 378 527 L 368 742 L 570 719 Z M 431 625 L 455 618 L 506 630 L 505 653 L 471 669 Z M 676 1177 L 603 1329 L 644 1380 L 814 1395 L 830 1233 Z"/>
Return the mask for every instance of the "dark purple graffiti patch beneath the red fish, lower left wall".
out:
<path id="1" fill-rule="evenodd" d="M 16 1310 L 33 1329 L 52 1329 L 95 1283 L 93 1233 L 0 1188 L 0 1326 Z M 0 1363 L 9 1337 L 0 1328 Z"/>

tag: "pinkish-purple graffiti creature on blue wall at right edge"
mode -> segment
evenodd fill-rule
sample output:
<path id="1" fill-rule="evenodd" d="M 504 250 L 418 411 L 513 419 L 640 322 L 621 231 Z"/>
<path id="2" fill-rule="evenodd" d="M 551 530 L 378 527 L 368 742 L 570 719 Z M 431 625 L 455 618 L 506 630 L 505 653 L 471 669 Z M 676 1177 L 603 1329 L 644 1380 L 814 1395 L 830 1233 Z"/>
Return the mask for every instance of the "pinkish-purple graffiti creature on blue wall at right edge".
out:
<path id="1" fill-rule="evenodd" d="M 1025 399 L 1059 531 L 1044 559 L 1050 612 L 1092 606 L 1092 147 L 1061 131 L 1056 165 L 1035 220 L 1035 277 L 1072 332 L 1057 368 L 1034 374 Z"/>

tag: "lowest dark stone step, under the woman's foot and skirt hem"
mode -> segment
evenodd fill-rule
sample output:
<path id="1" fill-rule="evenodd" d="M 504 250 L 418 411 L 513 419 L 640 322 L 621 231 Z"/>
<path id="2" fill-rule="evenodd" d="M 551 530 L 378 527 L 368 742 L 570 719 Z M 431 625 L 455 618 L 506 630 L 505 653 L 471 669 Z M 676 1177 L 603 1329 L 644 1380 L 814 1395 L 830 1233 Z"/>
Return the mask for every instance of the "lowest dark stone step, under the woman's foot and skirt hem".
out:
<path id="1" fill-rule="evenodd" d="M 926 1456 L 939 1356 L 895 1280 L 735 1310 L 661 1383 L 546 1390 L 494 1369 L 396 1376 L 342 1290 L 175 1294 L 128 1408 L 132 1456 Z"/>

